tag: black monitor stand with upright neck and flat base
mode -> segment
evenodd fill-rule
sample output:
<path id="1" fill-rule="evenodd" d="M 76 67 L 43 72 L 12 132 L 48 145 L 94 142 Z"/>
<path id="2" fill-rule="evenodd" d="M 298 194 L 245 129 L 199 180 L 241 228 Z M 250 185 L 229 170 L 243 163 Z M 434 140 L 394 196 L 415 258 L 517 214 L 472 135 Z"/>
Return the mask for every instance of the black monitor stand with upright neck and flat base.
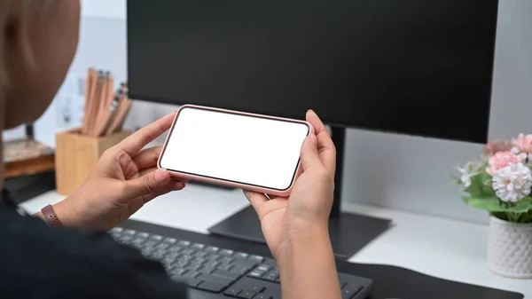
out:
<path id="1" fill-rule="evenodd" d="M 387 230 L 389 219 L 363 216 L 340 211 L 346 129 L 332 127 L 332 142 L 336 146 L 336 176 L 334 177 L 334 201 L 329 217 L 329 235 L 335 256 L 347 259 L 364 248 L 381 232 Z M 261 223 L 251 206 L 240 210 L 208 229 L 209 232 L 240 240 L 264 243 Z"/>

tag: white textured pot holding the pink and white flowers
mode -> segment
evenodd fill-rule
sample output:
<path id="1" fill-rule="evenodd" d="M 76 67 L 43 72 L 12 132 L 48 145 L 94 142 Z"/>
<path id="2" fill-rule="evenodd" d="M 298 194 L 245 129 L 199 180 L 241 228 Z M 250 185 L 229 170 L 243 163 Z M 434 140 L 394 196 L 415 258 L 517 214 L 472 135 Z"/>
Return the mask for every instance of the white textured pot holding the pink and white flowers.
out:
<path id="1" fill-rule="evenodd" d="M 532 279 L 532 224 L 490 216 L 488 268 L 514 279 Z"/>

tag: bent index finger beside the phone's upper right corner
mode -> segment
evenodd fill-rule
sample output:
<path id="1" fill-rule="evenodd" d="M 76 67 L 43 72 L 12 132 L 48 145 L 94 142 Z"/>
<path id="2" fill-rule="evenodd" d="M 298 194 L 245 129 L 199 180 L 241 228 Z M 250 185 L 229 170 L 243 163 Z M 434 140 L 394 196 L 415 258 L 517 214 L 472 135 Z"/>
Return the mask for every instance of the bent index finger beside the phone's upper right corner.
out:
<path id="1" fill-rule="evenodd" d="M 334 174 L 336 170 L 336 147 L 332 143 L 331 136 L 314 111 L 309 110 L 307 112 L 307 122 L 310 122 L 314 127 L 317 137 L 317 152 L 321 161 L 323 161 L 325 168 Z"/>

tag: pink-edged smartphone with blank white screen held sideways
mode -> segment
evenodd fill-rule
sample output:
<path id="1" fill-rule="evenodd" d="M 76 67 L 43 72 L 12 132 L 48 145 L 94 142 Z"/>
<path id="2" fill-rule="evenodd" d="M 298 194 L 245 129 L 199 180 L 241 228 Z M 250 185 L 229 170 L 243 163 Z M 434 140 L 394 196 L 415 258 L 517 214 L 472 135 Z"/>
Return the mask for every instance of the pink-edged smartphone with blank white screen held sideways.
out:
<path id="1" fill-rule="evenodd" d="M 301 174 L 309 122 L 184 105 L 158 165 L 176 177 L 287 196 Z"/>

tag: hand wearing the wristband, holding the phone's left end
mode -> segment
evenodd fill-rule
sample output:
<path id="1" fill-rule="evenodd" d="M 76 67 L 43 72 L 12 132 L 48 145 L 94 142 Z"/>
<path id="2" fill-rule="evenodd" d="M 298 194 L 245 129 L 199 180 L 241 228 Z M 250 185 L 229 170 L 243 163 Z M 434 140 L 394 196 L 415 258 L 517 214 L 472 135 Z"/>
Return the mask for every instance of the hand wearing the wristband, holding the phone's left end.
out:
<path id="1" fill-rule="evenodd" d="M 53 206 L 66 226 L 111 229 L 161 194 L 184 188 L 184 181 L 157 169 L 161 147 L 143 148 L 168 130 L 168 114 L 106 150 L 82 186 Z"/>

